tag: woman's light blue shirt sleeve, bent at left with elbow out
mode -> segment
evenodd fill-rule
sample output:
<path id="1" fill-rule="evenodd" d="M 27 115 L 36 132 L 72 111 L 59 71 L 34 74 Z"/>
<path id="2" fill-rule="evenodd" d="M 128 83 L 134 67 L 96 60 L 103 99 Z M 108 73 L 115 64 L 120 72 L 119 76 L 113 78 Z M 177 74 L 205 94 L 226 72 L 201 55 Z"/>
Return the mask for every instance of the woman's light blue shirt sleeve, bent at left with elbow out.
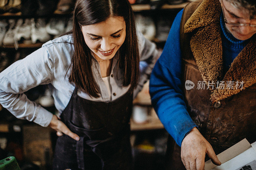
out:
<path id="1" fill-rule="evenodd" d="M 23 93 L 53 77 L 53 59 L 45 47 L 39 48 L 0 73 L 0 103 L 19 119 L 48 126 L 52 113 L 28 100 Z"/>

